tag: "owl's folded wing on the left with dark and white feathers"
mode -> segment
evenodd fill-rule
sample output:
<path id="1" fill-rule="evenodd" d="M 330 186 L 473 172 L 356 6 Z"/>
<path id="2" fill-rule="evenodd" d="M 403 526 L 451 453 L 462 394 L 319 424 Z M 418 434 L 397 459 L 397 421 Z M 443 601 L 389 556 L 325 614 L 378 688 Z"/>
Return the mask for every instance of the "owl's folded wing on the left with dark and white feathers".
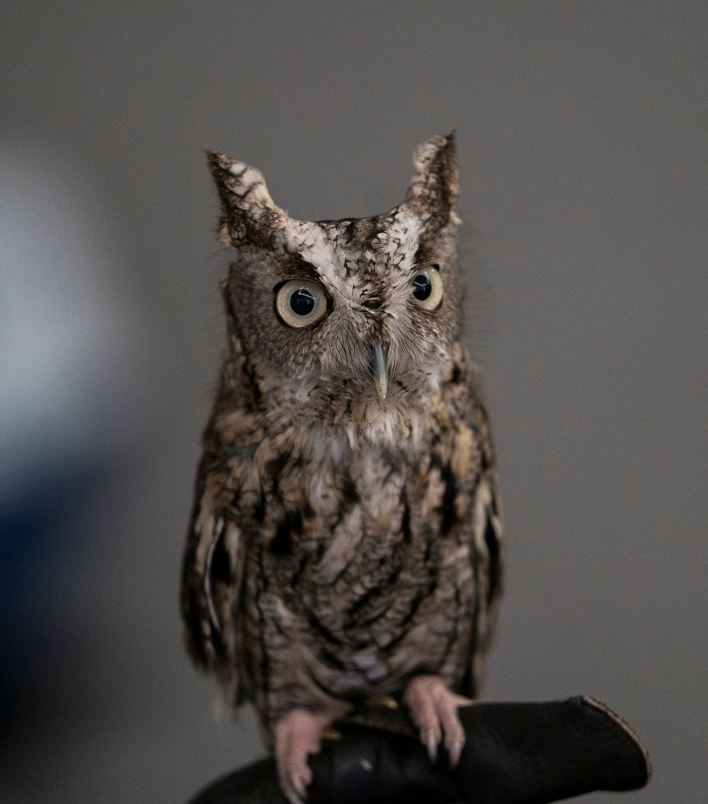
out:
<path id="1" fill-rule="evenodd" d="M 234 703 L 243 690 L 237 646 L 237 609 L 245 544 L 233 519 L 233 500 L 224 489 L 228 474 L 202 461 L 182 574 L 182 616 L 187 650 L 197 667 L 213 671 L 231 688 Z M 229 490 L 233 494 L 233 490 Z"/>

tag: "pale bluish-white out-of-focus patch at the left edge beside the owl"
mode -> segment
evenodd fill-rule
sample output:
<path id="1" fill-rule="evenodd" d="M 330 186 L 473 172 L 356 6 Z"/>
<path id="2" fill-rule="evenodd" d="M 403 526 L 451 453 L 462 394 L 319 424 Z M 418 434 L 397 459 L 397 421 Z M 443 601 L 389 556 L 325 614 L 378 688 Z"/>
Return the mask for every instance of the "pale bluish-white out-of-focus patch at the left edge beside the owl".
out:
<path id="1" fill-rule="evenodd" d="M 85 173 L 38 154 L 0 150 L 0 494 L 23 471 L 97 449 L 132 329 L 110 210 Z"/>

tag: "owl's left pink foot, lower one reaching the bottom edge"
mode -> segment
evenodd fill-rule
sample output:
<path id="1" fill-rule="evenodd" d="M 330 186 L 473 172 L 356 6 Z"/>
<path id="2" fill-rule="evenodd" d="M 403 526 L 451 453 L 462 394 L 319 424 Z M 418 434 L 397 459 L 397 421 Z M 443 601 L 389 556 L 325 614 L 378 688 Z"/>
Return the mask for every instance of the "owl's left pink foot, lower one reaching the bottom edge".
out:
<path id="1" fill-rule="evenodd" d="M 322 734 L 346 708 L 291 709 L 275 725 L 275 760 L 280 787 L 291 804 L 303 804 L 312 781 L 307 757 L 319 753 Z"/>

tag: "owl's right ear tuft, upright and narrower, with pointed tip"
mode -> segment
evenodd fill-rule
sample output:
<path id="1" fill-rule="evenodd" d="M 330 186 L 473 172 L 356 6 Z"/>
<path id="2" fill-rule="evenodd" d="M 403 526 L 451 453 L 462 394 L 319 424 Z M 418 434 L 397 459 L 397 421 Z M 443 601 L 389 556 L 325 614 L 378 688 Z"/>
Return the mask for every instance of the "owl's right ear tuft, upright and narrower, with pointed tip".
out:
<path id="1" fill-rule="evenodd" d="M 405 204 L 424 223 L 434 223 L 439 228 L 450 221 L 459 224 L 454 208 L 459 192 L 455 133 L 430 137 L 418 146 L 413 161 L 416 170 L 405 195 Z"/>

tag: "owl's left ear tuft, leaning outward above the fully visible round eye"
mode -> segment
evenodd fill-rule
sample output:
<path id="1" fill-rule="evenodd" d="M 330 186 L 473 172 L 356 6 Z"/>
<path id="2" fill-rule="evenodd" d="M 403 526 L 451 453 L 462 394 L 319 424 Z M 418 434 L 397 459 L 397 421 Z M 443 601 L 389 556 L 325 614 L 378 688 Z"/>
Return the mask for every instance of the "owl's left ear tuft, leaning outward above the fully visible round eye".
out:
<path id="1" fill-rule="evenodd" d="M 221 202 L 219 240 L 272 247 L 288 216 L 270 197 L 261 171 L 217 151 L 207 151 L 207 161 Z"/>

